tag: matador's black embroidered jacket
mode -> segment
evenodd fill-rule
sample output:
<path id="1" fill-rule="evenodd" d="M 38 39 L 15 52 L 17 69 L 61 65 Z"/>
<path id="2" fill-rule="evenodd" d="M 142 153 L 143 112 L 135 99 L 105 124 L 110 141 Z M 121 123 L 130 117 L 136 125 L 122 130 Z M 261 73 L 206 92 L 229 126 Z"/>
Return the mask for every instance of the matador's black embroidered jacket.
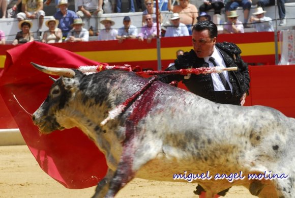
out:
<path id="1" fill-rule="evenodd" d="M 237 45 L 228 42 L 216 43 L 216 47 L 220 50 L 226 67 L 238 67 L 237 71 L 229 71 L 228 75 L 233 89 L 233 96 L 241 98 L 244 93 L 248 93 L 250 87 L 248 65 L 241 58 L 241 49 Z M 180 55 L 174 63 L 173 66 L 168 67 L 166 70 L 208 67 L 204 59 L 198 58 L 193 49 Z M 162 76 L 160 80 L 166 83 L 173 80 L 182 80 L 190 92 L 211 101 L 216 101 L 212 77 L 209 74 L 191 74 L 190 77 L 179 74 L 166 75 Z"/>

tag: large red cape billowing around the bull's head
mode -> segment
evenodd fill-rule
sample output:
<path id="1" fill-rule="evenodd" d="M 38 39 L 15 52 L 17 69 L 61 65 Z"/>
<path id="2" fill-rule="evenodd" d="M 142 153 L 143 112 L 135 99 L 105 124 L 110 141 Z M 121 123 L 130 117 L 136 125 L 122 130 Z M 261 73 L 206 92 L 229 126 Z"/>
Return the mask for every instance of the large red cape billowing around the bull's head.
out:
<path id="1" fill-rule="evenodd" d="M 48 74 L 38 71 L 30 62 L 65 68 L 102 63 L 52 45 L 30 42 L 7 51 L 5 68 L 0 74 L 0 94 L 43 171 L 67 188 L 97 185 L 105 176 L 107 165 L 94 142 L 77 128 L 41 135 L 32 116 L 21 108 L 33 114 L 52 85 Z"/>

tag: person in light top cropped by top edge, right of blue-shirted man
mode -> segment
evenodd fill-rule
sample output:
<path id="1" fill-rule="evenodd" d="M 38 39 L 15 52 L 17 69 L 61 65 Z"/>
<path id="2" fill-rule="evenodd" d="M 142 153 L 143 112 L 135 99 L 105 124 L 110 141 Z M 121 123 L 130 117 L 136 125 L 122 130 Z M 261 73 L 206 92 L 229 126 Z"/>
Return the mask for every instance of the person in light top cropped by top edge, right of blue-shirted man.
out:
<path id="1" fill-rule="evenodd" d="M 80 18 L 95 18 L 95 30 L 98 31 L 98 24 L 101 15 L 103 14 L 102 9 L 103 0 L 78 0 L 78 12 L 77 15 Z"/>

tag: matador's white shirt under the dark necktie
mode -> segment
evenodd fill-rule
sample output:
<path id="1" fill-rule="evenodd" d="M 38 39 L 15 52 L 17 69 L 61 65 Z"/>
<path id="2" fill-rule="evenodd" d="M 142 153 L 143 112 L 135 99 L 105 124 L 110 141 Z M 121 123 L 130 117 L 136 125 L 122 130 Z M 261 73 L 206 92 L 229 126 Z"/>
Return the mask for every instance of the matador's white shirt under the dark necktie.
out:
<path id="1" fill-rule="evenodd" d="M 222 57 L 220 51 L 215 46 L 214 46 L 214 52 L 211 56 L 215 59 L 215 63 L 217 66 L 225 68 L 225 63 L 224 63 L 223 57 Z M 214 67 L 213 63 L 211 63 L 211 61 L 209 61 L 209 58 L 210 58 L 210 56 L 204 57 L 204 61 L 209 63 L 209 67 Z M 227 83 L 229 84 L 230 90 L 232 92 L 232 86 L 231 86 L 231 83 L 229 82 L 229 77 L 228 77 L 227 71 L 223 71 L 222 73 L 223 73 Z M 213 80 L 214 91 L 225 91 L 225 87 L 221 81 L 219 74 L 212 73 L 211 77 Z"/>

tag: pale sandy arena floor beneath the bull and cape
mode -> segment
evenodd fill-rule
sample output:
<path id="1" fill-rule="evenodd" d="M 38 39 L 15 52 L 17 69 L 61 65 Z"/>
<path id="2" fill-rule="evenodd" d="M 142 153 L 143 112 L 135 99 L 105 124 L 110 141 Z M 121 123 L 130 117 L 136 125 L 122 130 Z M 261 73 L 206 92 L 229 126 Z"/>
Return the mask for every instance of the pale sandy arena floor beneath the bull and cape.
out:
<path id="1" fill-rule="evenodd" d="M 189 197 L 197 198 L 195 184 L 182 182 L 157 182 L 134 179 L 123 188 L 116 198 L 128 197 Z M 91 197 L 95 187 L 67 189 L 45 174 L 27 146 L 0 146 L 0 197 L 82 198 Z M 233 187 L 225 197 L 251 198 L 244 187 Z"/>

